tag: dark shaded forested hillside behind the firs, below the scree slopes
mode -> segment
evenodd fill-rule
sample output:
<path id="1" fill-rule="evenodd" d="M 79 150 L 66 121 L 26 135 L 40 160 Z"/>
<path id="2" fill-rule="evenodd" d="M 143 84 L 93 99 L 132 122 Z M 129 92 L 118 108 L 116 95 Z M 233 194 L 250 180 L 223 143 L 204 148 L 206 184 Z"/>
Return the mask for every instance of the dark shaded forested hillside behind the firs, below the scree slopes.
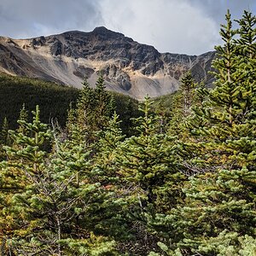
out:
<path id="1" fill-rule="evenodd" d="M 123 120 L 122 129 L 127 131 L 130 117 L 136 117 L 137 101 L 130 96 L 112 92 L 116 111 Z M 9 128 L 17 125 L 20 109 L 25 103 L 30 113 L 36 105 L 40 106 L 40 117 L 44 123 L 49 124 L 51 119 L 56 119 L 64 127 L 67 121 L 67 109 L 70 103 L 75 106 L 79 98 L 79 90 L 42 79 L 29 79 L 14 77 L 0 73 L 0 125 L 6 117 Z M 32 118 L 32 116 L 31 116 Z"/>

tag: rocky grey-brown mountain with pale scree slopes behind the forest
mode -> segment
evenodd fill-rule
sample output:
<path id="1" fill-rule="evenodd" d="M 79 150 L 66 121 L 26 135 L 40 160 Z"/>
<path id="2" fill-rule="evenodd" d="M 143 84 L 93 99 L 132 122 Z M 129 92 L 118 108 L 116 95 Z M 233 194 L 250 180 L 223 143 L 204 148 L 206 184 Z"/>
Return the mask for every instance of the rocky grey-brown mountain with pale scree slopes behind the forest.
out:
<path id="1" fill-rule="evenodd" d="M 212 83 L 214 52 L 203 55 L 160 53 L 101 26 L 92 32 L 64 32 L 48 37 L 0 37 L 0 72 L 45 79 L 80 88 L 84 77 L 93 86 L 99 73 L 108 90 L 142 99 L 178 88 L 182 74 Z"/>

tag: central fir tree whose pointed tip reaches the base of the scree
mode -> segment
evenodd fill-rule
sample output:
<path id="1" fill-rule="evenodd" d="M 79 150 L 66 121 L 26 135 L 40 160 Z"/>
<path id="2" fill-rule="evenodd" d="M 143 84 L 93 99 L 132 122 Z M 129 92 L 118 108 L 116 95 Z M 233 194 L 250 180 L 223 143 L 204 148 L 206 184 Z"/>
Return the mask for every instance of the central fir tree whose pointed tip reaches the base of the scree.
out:
<path id="1" fill-rule="evenodd" d="M 136 119 L 138 135 L 120 144 L 117 157 L 119 180 L 131 204 L 128 215 L 137 224 L 133 235 L 140 248 L 134 252 L 143 250 L 144 254 L 157 241 L 155 216 L 177 205 L 184 180 L 177 171 L 173 137 L 160 132 L 159 118 L 150 113 L 150 104 L 147 97 L 141 108 L 143 116 Z"/>

